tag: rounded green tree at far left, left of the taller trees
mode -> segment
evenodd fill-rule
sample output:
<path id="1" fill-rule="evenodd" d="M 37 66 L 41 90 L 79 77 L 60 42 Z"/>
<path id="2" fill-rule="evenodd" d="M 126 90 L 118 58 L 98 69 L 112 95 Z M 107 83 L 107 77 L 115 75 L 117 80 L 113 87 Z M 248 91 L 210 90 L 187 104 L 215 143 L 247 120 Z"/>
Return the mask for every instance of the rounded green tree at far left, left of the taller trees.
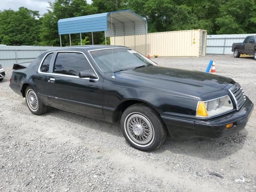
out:
<path id="1" fill-rule="evenodd" d="M 40 21 L 38 11 L 20 7 L 18 11 L 0 12 L 0 43 L 6 45 L 38 45 Z"/>

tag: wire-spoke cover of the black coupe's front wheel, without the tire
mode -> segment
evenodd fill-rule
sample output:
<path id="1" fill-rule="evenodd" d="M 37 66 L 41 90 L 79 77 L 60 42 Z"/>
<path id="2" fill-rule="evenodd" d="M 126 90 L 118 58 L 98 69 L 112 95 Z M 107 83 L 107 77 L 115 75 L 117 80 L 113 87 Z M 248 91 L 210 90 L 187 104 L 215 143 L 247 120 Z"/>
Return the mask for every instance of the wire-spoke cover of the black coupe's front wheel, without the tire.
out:
<path id="1" fill-rule="evenodd" d="M 148 146 L 152 143 L 154 128 L 150 120 L 143 114 L 137 112 L 128 114 L 124 121 L 124 127 L 126 135 L 134 144 Z"/>

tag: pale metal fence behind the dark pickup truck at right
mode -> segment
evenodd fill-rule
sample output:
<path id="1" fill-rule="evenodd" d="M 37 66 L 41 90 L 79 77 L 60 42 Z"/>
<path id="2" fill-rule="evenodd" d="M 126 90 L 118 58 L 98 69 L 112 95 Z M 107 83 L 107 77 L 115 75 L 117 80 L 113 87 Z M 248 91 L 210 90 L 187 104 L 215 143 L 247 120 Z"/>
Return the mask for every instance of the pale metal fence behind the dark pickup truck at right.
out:
<path id="1" fill-rule="evenodd" d="M 206 54 L 233 54 L 233 43 L 243 42 L 244 38 L 256 34 L 207 35 Z"/>

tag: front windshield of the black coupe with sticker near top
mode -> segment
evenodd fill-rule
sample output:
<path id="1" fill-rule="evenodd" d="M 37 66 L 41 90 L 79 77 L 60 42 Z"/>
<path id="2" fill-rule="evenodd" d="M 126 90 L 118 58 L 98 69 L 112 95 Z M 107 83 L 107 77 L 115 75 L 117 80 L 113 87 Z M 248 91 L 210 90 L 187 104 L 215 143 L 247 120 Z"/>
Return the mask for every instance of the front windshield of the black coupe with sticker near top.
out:
<path id="1" fill-rule="evenodd" d="M 90 54 L 104 73 L 112 72 L 113 68 L 118 72 L 153 65 L 146 57 L 128 48 L 95 50 Z"/>

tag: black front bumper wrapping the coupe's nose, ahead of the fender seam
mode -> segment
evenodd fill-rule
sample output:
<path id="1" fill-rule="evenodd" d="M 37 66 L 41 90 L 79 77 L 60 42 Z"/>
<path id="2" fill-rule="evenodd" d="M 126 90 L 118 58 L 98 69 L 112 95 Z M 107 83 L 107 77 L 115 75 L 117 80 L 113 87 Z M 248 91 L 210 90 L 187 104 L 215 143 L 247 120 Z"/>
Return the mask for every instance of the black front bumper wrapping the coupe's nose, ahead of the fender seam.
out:
<path id="1" fill-rule="evenodd" d="M 196 120 L 194 129 L 196 136 L 205 138 L 222 138 L 234 134 L 246 126 L 252 114 L 254 104 L 246 97 L 246 103 L 239 110 L 216 117 L 210 120 Z M 234 123 L 232 128 L 226 128 L 227 124 Z"/>

